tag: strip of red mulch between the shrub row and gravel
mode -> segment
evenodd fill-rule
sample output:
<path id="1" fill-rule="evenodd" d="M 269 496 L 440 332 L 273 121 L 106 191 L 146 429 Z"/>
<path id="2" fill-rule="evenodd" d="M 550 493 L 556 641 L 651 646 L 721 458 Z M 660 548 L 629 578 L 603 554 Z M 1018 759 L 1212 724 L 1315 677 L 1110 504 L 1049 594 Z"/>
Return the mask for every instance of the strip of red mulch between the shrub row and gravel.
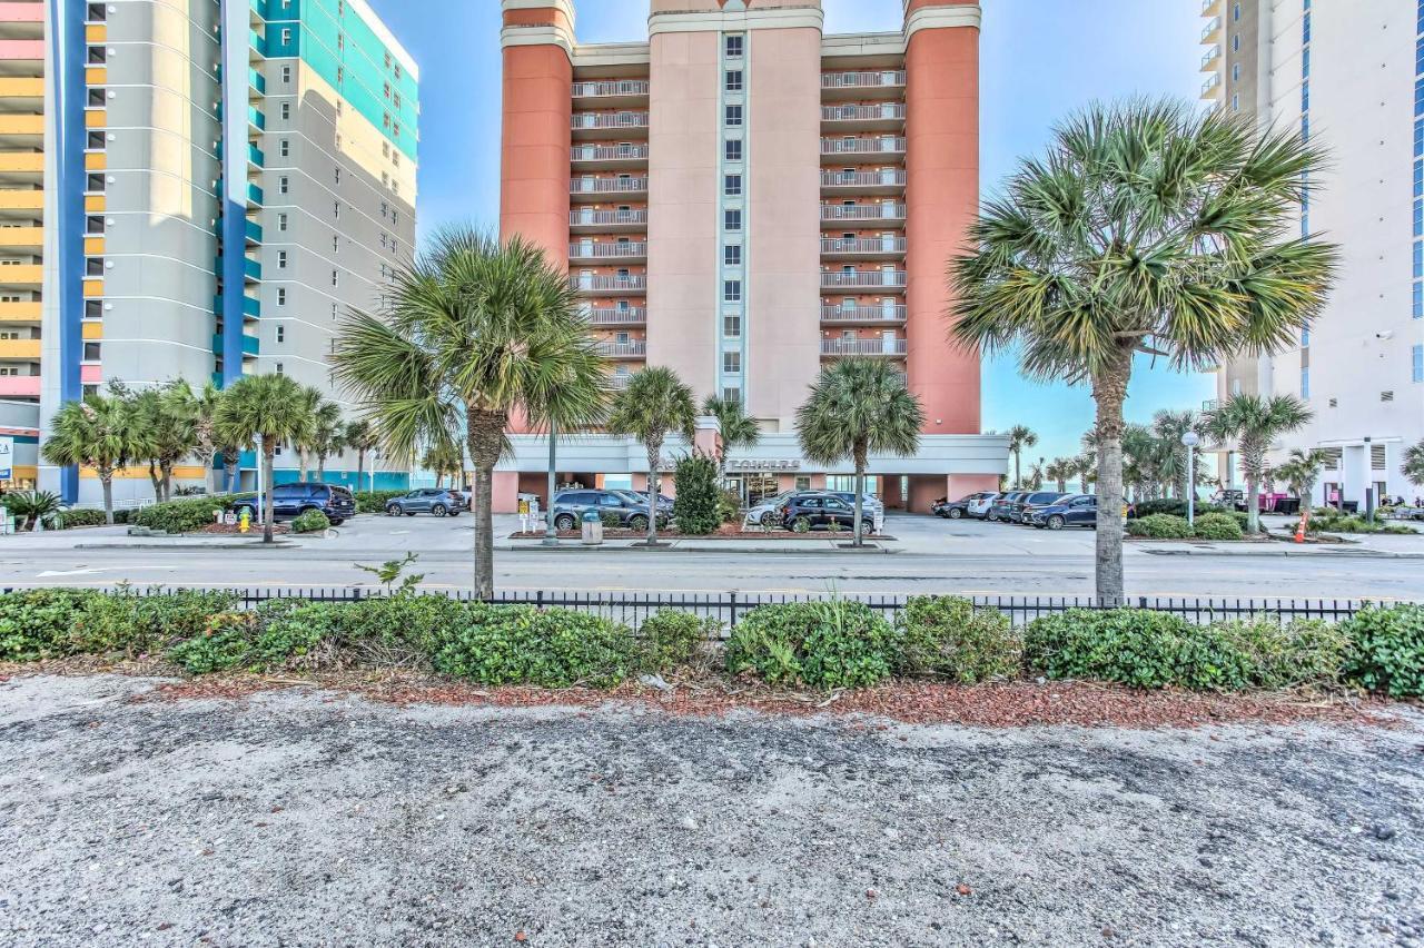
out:
<path id="1" fill-rule="evenodd" d="M 1393 726 L 1390 705 L 1377 699 L 1290 693 L 1205 695 L 1139 692 L 1094 682 L 1007 682 L 956 686 L 897 682 L 846 692 L 793 692 L 715 678 L 672 682 L 672 690 L 627 683 L 597 689 L 478 688 L 419 675 L 315 675 L 312 678 L 202 678 L 159 685 L 135 700 L 241 699 L 282 688 L 325 688 L 394 705 L 493 707 L 587 707 L 641 705 L 669 715 L 716 717 L 762 712 L 797 717 L 847 717 L 854 730 L 884 730 L 874 719 L 970 727 L 1202 727 L 1208 725 L 1327 723 Z"/>

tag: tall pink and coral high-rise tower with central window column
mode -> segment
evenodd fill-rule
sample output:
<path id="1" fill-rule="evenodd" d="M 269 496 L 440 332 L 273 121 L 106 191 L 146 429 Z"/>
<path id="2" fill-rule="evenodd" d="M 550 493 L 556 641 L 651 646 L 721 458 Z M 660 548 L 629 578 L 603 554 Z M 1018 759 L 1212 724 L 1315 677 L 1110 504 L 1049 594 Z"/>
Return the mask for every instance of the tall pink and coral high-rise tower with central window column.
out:
<path id="1" fill-rule="evenodd" d="M 501 232 L 568 268 L 611 386 L 662 364 L 740 399 L 763 436 L 729 467 L 756 500 L 849 487 L 849 464 L 802 457 L 796 409 L 833 360 L 886 359 L 926 428 L 917 455 L 871 458 L 884 500 L 998 484 L 1007 443 L 980 433 L 980 362 L 946 322 L 978 204 L 975 3 L 906 0 L 891 31 L 827 36 L 819 0 L 651 0 L 646 40 L 612 44 L 577 41 L 572 0 L 503 13 Z M 514 447 L 503 508 L 544 493 L 547 441 Z M 641 487 L 641 453 L 572 440 L 561 481 Z"/>

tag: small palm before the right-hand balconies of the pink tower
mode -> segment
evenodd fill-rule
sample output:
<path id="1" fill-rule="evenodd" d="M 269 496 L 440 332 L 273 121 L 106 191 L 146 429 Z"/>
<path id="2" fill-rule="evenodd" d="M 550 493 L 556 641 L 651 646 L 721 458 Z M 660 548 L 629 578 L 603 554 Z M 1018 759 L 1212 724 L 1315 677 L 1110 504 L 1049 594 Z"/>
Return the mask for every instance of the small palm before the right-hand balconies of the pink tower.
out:
<path id="1" fill-rule="evenodd" d="M 864 545 L 863 508 L 870 453 L 909 457 L 920 450 L 924 410 L 904 379 L 881 359 L 843 359 L 810 387 L 796 410 L 802 454 L 817 464 L 856 465 L 856 545 Z"/>

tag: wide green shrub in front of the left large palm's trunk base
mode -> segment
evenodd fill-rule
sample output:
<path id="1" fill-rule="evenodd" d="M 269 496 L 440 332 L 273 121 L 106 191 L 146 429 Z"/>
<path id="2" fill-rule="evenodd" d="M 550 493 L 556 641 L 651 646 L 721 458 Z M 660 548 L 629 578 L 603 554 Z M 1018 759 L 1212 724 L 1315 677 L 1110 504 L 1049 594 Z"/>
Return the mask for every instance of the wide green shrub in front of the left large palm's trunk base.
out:
<path id="1" fill-rule="evenodd" d="M 627 626 L 587 612 L 473 605 L 464 625 L 444 631 L 434 668 L 480 685 L 611 688 L 638 659 Z"/>

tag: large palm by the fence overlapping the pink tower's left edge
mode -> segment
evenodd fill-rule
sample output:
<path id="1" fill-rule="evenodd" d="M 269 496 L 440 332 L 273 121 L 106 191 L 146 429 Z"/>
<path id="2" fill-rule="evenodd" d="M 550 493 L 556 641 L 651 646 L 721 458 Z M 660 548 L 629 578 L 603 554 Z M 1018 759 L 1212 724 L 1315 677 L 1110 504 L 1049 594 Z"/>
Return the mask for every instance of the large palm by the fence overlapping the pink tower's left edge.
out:
<path id="1" fill-rule="evenodd" d="M 332 354 L 387 455 L 466 438 L 474 465 L 474 586 L 494 595 L 494 465 L 511 416 L 562 431 L 601 421 L 602 359 L 568 275 L 523 238 L 444 231 L 396 268 L 380 317 L 352 312 Z"/>

